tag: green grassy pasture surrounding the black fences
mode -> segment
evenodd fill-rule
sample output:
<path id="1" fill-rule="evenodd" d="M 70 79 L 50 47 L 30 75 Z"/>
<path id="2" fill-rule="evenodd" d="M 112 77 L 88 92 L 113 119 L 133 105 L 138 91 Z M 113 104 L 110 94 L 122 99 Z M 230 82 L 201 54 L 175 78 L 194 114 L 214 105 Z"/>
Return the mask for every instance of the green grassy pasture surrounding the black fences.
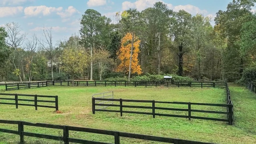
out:
<path id="1" fill-rule="evenodd" d="M 17 120 L 33 123 L 46 123 L 57 125 L 68 125 L 103 130 L 114 130 L 135 134 L 147 134 L 168 138 L 178 138 L 200 142 L 212 142 L 219 144 L 253 144 L 256 143 L 256 95 L 243 87 L 230 86 L 231 99 L 234 104 L 234 125 L 227 122 L 211 120 L 198 120 L 187 118 L 174 118 L 142 114 L 96 112 L 92 114 L 92 94 L 101 92 L 114 92 L 114 98 L 133 100 L 157 100 L 176 102 L 198 102 L 226 104 L 226 91 L 224 88 L 160 88 L 160 87 L 83 87 L 83 86 L 48 86 L 42 88 L 22 89 L 5 91 L 5 86 L 0 86 L 0 93 L 17 94 L 38 94 L 58 96 L 59 110 L 56 114 L 53 108 L 38 108 L 33 106 L 0 105 L 1 120 Z M 29 98 L 24 98 L 29 99 Z M 26 102 L 28 103 L 28 102 Z M 133 103 L 123 103 L 134 105 Z M 138 105 L 137 103 L 135 105 Z M 143 106 L 150 106 L 141 104 Z M 156 105 L 157 106 L 157 105 Z M 161 105 L 170 108 L 187 108 L 183 105 Z M 111 108 L 110 108 L 111 109 Z M 192 109 L 225 111 L 224 108 L 214 106 L 196 106 Z M 127 108 L 123 110 L 135 110 Z M 156 110 L 157 112 L 157 110 Z M 165 113 L 166 111 L 161 111 Z M 174 111 L 169 114 L 183 114 L 184 112 Z M 193 115 L 193 112 L 192 112 Z M 197 116 L 226 118 L 223 114 L 197 113 Z M 0 124 L 0 128 L 17 130 L 12 124 Z M 24 129 L 39 134 L 62 135 L 60 131 L 49 128 L 35 128 L 25 126 Z M 70 132 L 70 136 L 87 140 L 113 143 L 112 136 L 102 136 L 85 132 Z M 24 137 L 28 144 L 58 143 L 51 140 L 43 140 Z M 0 144 L 15 144 L 19 136 L 14 134 L 0 133 Z M 121 138 L 122 144 L 164 144 L 154 143 L 132 138 Z"/>

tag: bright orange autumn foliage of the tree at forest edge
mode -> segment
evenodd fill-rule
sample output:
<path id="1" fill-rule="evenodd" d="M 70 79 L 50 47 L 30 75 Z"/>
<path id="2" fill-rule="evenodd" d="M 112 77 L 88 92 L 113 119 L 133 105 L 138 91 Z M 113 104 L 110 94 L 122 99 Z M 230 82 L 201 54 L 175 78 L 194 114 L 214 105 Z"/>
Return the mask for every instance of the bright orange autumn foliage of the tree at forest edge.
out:
<path id="1" fill-rule="evenodd" d="M 132 47 L 131 41 L 132 41 L 132 34 L 127 33 L 124 36 L 124 38 L 122 38 L 121 47 L 117 52 L 118 59 L 121 61 L 121 63 L 117 67 L 117 71 L 126 72 L 126 74 L 129 72 L 130 55 L 131 55 L 131 47 Z M 132 74 L 136 72 L 138 74 L 142 74 L 142 70 L 138 62 L 138 54 L 140 52 L 139 46 L 140 46 L 140 40 L 138 40 L 138 38 L 135 37 L 133 42 L 133 52 L 132 52 L 132 66 L 131 66 Z"/>

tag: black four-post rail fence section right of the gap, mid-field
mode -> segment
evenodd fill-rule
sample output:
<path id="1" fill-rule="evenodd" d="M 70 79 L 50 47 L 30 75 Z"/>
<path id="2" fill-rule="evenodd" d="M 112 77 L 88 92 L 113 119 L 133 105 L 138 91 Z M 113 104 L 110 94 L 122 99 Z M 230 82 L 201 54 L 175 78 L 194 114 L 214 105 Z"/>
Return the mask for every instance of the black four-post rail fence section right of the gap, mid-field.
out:
<path id="1" fill-rule="evenodd" d="M 116 101 L 118 104 L 96 104 L 95 100 L 102 100 L 102 101 Z M 130 106 L 130 105 L 123 105 L 123 102 L 143 102 L 143 103 L 151 103 L 152 106 Z M 161 104 L 183 104 L 187 105 L 186 109 L 181 108 L 164 108 L 164 107 L 156 107 L 155 105 L 157 103 Z M 219 107 L 226 107 L 227 111 L 210 111 L 210 110 L 194 110 L 191 108 L 191 106 L 219 106 Z M 104 109 L 96 109 L 95 106 L 112 106 L 112 107 L 119 107 L 118 110 L 104 110 Z M 124 111 L 123 108 L 142 108 L 142 109 L 150 109 L 151 112 L 138 112 L 138 111 Z M 123 113 L 130 113 L 130 114 L 148 114 L 152 115 L 153 118 L 155 116 L 170 116 L 170 117 L 179 117 L 179 118 L 188 118 L 189 120 L 191 118 L 195 119 L 202 119 L 202 120 L 216 120 L 216 121 L 223 121 L 228 122 L 230 125 L 232 125 L 233 122 L 233 113 L 232 113 L 233 105 L 232 104 L 205 104 L 205 103 L 192 103 L 192 102 L 160 102 L 160 101 L 154 101 L 154 100 L 123 100 L 123 99 L 104 99 L 104 98 L 92 98 L 92 113 L 95 114 L 95 111 L 101 111 L 101 112 L 120 112 L 120 116 L 122 116 Z M 188 112 L 188 115 L 176 115 L 176 114 L 161 114 L 156 113 L 156 110 L 172 110 L 172 111 L 184 111 Z M 203 112 L 203 113 L 214 113 L 214 114 L 225 114 L 227 115 L 227 119 L 221 119 L 221 118 L 208 118 L 208 117 L 200 117 L 200 116 L 192 116 L 191 112 Z"/>

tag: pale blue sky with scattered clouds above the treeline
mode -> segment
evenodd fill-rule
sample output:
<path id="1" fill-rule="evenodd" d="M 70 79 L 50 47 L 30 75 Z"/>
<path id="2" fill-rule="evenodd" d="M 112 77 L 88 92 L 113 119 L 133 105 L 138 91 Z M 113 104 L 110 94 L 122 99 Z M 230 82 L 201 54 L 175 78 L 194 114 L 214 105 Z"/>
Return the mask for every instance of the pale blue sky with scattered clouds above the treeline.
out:
<path id="1" fill-rule="evenodd" d="M 79 34 L 79 19 L 87 9 L 94 9 L 113 19 L 116 12 L 129 8 L 139 11 L 164 2 L 170 9 L 181 9 L 214 18 L 218 10 L 226 10 L 232 0 L 0 0 L 0 26 L 18 22 L 27 38 L 34 33 L 42 37 L 43 27 L 52 27 L 54 42 Z M 214 22 L 212 22 L 214 24 Z"/>

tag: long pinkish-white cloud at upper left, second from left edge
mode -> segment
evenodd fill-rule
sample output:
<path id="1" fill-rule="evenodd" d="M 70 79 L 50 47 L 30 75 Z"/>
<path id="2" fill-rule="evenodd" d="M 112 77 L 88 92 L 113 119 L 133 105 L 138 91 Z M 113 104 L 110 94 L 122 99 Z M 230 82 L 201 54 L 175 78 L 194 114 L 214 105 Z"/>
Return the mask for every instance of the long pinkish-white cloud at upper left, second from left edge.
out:
<path id="1" fill-rule="evenodd" d="M 62 7 L 47 7 L 47 6 L 29 6 L 24 9 L 25 16 L 38 16 L 43 14 L 43 16 L 49 15 L 52 12 L 60 12 Z"/>

